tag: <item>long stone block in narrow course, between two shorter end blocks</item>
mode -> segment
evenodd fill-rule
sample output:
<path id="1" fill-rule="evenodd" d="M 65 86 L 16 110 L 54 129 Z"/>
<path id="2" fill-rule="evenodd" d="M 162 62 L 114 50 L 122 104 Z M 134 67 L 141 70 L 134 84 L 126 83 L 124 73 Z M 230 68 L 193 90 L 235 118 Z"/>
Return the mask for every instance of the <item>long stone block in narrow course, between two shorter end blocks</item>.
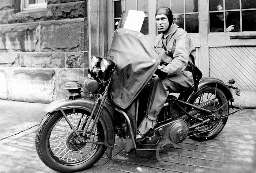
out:
<path id="1" fill-rule="evenodd" d="M 65 68 L 64 52 L 21 53 L 22 67 Z"/>

